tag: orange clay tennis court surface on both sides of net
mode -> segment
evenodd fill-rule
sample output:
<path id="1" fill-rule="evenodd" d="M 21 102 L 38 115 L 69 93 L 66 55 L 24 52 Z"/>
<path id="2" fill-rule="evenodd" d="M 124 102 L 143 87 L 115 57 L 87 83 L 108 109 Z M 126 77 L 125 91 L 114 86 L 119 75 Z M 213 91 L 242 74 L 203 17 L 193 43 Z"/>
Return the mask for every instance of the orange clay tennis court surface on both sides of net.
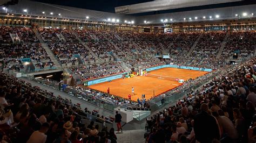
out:
<path id="1" fill-rule="evenodd" d="M 161 68 L 158 70 L 152 70 L 149 74 L 169 76 L 183 79 L 184 81 L 192 78 L 197 78 L 207 71 L 178 69 L 178 68 Z M 120 78 L 111 82 L 103 82 L 94 85 L 90 85 L 89 88 L 99 91 L 107 92 L 107 88 L 110 88 L 110 94 L 116 95 L 122 98 L 128 98 L 128 95 L 132 95 L 132 87 L 134 88 L 134 94 L 131 96 L 132 101 L 137 101 L 138 98 L 142 98 L 145 94 L 146 99 L 162 94 L 181 85 L 178 81 L 166 80 L 166 78 L 147 77 L 147 76 L 134 76 L 131 78 Z M 154 91 L 153 91 L 154 90 Z"/>

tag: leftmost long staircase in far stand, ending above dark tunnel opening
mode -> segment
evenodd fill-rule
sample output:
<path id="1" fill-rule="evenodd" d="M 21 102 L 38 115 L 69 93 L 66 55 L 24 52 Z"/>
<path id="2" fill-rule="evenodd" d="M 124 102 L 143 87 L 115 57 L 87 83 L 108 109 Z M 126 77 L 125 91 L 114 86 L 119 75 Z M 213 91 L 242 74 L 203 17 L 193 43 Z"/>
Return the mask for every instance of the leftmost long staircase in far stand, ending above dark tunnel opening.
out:
<path id="1" fill-rule="evenodd" d="M 56 56 L 52 53 L 51 49 L 48 47 L 47 44 L 43 41 L 37 30 L 34 28 L 33 32 L 36 34 L 36 37 L 39 39 L 40 43 L 42 44 L 42 47 L 45 49 L 46 53 L 50 57 L 51 61 L 54 63 L 55 67 L 57 69 L 62 68 L 62 66 L 59 63 L 59 60 L 56 58 Z"/>

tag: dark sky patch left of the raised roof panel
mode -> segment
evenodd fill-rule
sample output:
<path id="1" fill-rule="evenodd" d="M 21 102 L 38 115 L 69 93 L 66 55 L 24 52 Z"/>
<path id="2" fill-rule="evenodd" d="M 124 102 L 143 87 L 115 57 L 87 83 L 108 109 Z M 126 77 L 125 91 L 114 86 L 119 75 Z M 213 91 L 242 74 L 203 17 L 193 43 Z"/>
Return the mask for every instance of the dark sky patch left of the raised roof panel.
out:
<path id="1" fill-rule="evenodd" d="M 35 0 L 35 1 L 114 13 L 114 7 L 150 2 L 153 0 Z"/>

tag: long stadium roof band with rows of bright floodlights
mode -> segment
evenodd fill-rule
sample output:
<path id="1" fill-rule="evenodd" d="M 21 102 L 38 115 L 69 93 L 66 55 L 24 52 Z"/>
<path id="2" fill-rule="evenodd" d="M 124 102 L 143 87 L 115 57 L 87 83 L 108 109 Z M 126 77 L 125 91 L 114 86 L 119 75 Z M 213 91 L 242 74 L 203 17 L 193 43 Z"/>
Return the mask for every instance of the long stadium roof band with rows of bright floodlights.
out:
<path id="1" fill-rule="evenodd" d="M 37 0 L 38 1 L 38 0 Z M 59 0 L 57 0 L 59 1 Z M 74 0 L 75 1 L 75 0 Z M 162 0 L 158 0 L 162 1 Z M 167 1 L 167 0 L 166 0 Z M 202 0 L 205 1 L 205 0 Z M 212 0 L 215 1 L 215 0 Z M 254 1 L 255 3 L 255 1 Z M 150 25 L 201 22 L 207 20 L 254 18 L 256 4 L 228 6 L 224 8 L 208 8 L 190 11 L 176 11 L 157 15 L 130 16 L 117 13 L 87 10 L 71 6 L 63 6 L 30 0 L 19 1 L 16 5 L 9 5 L 7 9 L 0 8 L 2 13 L 17 13 L 21 15 L 44 16 L 53 18 L 89 20 L 91 22 L 106 22 L 118 24 Z M 25 10 L 25 11 L 24 11 Z"/>

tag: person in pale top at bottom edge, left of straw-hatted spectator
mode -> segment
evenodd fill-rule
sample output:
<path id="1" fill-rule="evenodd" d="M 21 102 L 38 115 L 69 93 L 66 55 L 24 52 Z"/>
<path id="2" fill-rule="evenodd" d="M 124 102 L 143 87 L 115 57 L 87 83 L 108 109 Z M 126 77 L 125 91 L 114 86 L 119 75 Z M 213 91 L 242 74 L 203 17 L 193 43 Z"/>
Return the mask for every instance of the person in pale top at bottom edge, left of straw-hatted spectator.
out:
<path id="1" fill-rule="evenodd" d="M 26 143 L 44 143 L 47 138 L 45 133 L 48 131 L 49 127 L 50 125 L 48 123 L 44 123 L 39 131 L 35 131 L 30 135 L 30 138 Z"/>

